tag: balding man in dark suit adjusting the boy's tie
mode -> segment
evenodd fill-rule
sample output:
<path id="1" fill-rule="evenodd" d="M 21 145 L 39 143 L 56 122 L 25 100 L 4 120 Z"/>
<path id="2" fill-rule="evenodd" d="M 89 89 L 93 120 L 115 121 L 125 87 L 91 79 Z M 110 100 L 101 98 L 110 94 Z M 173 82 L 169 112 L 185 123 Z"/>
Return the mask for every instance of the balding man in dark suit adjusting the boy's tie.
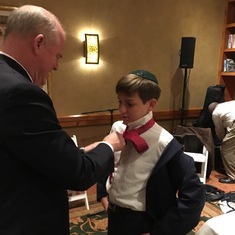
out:
<path id="1" fill-rule="evenodd" d="M 67 189 L 85 190 L 113 171 L 113 133 L 83 153 L 41 89 L 58 69 L 65 32 L 47 10 L 26 5 L 8 17 L 0 52 L 0 234 L 69 235 Z M 85 148 L 85 151 L 91 148 Z"/>

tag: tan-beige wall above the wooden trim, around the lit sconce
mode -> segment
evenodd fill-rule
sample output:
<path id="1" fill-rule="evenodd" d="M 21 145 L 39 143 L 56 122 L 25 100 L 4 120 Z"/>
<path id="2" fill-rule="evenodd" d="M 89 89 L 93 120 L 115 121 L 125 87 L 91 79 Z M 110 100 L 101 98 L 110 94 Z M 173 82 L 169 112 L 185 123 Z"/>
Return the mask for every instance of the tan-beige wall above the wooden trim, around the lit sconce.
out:
<path id="1" fill-rule="evenodd" d="M 194 68 L 188 81 L 187 107 L 203 106 L 206 88 L 217 83 L 224 0 L 21 0 L 55 13 L 67 33 L 60 69 L 50 91 L 58 116 L 117 107 L 114 87 L 133 69 L 155 73 L 162 87 L 159 110 L 181 107 L 181 37 L 196 37 Z M 18 0 L 0 5 L 19 6 Z M 81 63 L 79 35 L 100 34 L 100 64 Z"/>

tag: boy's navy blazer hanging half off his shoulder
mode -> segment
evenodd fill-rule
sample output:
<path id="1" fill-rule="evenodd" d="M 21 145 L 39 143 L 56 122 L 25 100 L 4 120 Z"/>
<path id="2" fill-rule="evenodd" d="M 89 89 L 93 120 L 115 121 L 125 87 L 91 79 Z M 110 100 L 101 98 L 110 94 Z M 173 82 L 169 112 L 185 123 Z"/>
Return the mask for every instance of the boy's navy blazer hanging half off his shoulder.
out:
<path id="1" fill-rule="evenodd" d="M 185 235 L 198 224 L 204 204 L 205 190 L 194 160 L 173 139 L 147 182 L 146 211 L 154 221 L 151 234 Z"/>

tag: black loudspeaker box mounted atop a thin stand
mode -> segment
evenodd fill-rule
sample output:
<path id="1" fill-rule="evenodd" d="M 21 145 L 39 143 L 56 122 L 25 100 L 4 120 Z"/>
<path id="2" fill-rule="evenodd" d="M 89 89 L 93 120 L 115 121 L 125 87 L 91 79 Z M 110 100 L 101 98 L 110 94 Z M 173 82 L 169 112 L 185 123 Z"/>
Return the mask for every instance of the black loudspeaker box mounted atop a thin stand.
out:
<path id="1" fill-rule="evenodd" d="M 193 68 L 195 43 L 194 37 L 181 39 L 180 68 Z"/>

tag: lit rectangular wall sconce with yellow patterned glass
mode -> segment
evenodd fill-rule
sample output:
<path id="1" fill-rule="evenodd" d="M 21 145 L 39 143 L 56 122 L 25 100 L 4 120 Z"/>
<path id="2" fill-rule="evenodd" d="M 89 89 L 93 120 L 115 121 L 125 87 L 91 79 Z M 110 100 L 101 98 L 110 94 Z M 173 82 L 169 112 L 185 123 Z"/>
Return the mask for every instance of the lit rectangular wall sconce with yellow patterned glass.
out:
<path id="1" fill-rule="evenodd" d="M 85 34 L 86 64 L 99 64 L 99 35 Z"/>

